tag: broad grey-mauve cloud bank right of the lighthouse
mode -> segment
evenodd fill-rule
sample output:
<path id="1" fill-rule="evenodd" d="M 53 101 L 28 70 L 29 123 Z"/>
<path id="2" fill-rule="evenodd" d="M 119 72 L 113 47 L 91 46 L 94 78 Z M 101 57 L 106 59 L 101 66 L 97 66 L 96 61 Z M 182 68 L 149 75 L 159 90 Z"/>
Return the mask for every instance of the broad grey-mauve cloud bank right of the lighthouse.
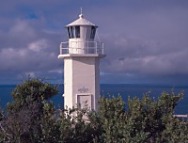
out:
<path id="1" fill-rule="evenodd" d="M 101 23 L 107 23 L 110 29 L 102 34 L 107 53 L 102 62 L 103 72 L 124 74 L 125 77 L 127 74 L 144 75 L 150 78 L 187 75 L 187 13 L 188 10 L 182 7 L 160 10 L 157 7 L 149 12 L 141 10 L 132 15 L 117 15 L 112 12 L 112 18 L 101 13 L 105 17 Z M 103 29 L 107 28 L 99 30 L 104 31 Z"/>

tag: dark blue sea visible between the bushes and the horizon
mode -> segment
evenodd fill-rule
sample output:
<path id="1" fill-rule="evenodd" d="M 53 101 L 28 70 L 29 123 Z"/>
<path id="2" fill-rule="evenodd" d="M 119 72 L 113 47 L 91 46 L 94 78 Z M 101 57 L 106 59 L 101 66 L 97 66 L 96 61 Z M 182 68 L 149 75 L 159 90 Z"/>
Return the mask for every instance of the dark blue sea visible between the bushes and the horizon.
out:
<path id="1" fill-rule="evenodd" d="M 5 108 L 8 102 L 11 102 L 11 92 L 16 85 L 0 85 L 0 105 Z M 63 85 L 58 85 L 59 93 L 54 96 L 51 100 L 57 108 L 63 107 Z M 101 85 L 101 96 L 121 96 L 126 102 L 128 96 L 139 97 L 145 93 L 157 99 L 162 92 L 184 93 L 184 98 L 179 102 L 175 109 L 176 114 L 188 114 L 188 86 L 169 86 L 169 85 L 150 85 L 150 84 L 102 84 Z"/>

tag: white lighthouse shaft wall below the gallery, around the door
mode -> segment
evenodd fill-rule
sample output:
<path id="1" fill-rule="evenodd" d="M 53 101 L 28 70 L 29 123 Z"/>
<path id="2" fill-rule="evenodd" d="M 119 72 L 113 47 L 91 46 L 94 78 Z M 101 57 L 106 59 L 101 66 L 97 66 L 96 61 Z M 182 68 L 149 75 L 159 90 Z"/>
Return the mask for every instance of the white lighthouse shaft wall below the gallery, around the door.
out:
<path id="1" fill-rule="evenodd" d="M 91 103 L 92 109 L 97 109 L 100 97 L 99 72 L 98 57 L 66 58 L 64 68 L 65 106 L 71 108 L 74 105 L 76 107 L 77 101 L 82 100 L 83 102 L 83 100 L 91 99 L 88 103 Z"/>

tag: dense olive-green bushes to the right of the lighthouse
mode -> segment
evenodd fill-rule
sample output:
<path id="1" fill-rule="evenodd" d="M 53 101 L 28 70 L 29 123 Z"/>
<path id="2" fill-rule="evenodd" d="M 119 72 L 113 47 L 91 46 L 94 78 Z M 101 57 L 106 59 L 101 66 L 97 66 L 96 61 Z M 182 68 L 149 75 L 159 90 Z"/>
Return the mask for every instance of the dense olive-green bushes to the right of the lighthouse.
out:
<path id="1" fill-rule="evenodd" d="M 103 121 L 104 142 L 188 141 L 188 123 L 173 116 L 175 105 L 181 97 L 181 93 L 162 93 L 158 100 L 148 95 L 142 99 L 129 98 L 126 109 L 121 97 L 103 98 L 99 114 Z"/>

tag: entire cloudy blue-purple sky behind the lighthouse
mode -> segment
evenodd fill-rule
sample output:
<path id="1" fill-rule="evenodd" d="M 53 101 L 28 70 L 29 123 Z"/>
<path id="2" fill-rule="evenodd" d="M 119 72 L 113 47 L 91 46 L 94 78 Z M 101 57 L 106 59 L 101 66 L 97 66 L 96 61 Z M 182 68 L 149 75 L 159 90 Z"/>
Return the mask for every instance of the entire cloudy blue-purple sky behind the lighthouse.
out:
<path id="1" fill-rule="evenodd" d="M 80 7 L 105 45 L 101 83 L 188 84 L 187 0 L 1 0 L 0 84 L 63 83 L 59 45 Z"/>

